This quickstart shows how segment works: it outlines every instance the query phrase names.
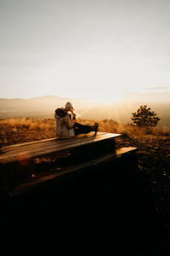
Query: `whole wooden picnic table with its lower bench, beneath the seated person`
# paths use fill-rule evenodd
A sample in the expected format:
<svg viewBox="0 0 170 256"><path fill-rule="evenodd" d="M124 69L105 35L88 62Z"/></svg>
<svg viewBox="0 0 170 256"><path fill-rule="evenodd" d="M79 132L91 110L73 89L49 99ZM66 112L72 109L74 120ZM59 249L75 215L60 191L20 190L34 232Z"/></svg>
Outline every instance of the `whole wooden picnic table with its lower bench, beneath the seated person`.
<svg viewBox="0 0 170 256"><path fill-rule="evenodd" d="M91 132L70 139L51 138L4 146L0 154L1 185L8 190L9 195L18 195L21 191L65 177L69 173L87 170L92 166L98 168L129 154L134 155L137 148L127 147L116 150L115 138L120 136L121 134ZM35 166L35 159L56 156L68 150L71 152L71 161L64 157L64 162L68 162L67 166L56 168L54 172L32 175L31 167Z"/></svg>

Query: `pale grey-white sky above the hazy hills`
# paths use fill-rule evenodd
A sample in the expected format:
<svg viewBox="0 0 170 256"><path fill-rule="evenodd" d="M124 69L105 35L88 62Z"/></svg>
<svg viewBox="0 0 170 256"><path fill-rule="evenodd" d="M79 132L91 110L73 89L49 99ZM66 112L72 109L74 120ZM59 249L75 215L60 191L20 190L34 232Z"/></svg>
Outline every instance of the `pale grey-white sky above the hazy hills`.
<svg viewBox="0 0 170 256"><path fill-rule="evenodd" d="M170 91L169 0L0 0L0 97Z"/></svg>

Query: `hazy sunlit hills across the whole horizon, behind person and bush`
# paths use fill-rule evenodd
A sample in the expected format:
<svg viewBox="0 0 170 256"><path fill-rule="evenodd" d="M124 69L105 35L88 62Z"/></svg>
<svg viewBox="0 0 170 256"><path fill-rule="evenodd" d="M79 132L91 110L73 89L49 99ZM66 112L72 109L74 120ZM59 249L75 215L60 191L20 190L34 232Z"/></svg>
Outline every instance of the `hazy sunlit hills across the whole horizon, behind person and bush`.
<svg viewBox="0 0 170 256"><path fill-rule="evenodd" d="M0 118L37 117L53 118L56 108L64 107L66 102L73 102L82 119L114 119L130 123L131 116L140 105L148 105L161 118L160 127L170 128L170 102L149 102L148 98L128 95L123 102L104 104L87 98L64 98L42 96L31 99L0 99Z"/></svg>

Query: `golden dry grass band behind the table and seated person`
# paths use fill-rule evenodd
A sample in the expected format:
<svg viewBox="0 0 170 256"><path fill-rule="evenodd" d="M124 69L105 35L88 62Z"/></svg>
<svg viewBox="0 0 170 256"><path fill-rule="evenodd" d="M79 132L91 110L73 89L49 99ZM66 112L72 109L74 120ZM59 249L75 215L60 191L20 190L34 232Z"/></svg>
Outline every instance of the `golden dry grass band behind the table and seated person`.
<svg viewBox="0 0 170 256"><path fill-rule="evenodd" d="M142 129L130 124L120 124L113 119L92 120L77 119L84 125L99 123L99 131L121 133L122 136L153 135L169 137L170 131L166 129ZM55 119L0 119L0 144L25 143L45 138L55 137Z"/></svg>

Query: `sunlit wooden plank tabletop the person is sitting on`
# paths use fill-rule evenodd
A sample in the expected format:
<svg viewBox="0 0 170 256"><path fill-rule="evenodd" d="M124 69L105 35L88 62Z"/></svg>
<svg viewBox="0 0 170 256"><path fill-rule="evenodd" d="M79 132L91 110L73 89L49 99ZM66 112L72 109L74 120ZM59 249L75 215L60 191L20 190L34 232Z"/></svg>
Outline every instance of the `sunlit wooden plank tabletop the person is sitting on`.
<svg viewBox="0 0 170 256"><path fill-rule="evenodd" d="M3 154L0 154L0 163L5 164L18 160L26 160L33 157L38 157L43 154L51 154L54 152L63 151L66 149L81 147L89 143L96 143L99 141L119 137L121 134L98 132L94 136L94 132L86 136L79 136L69 139L49 139L32 143L24 143L14 146L2 148Z"/></svg>

